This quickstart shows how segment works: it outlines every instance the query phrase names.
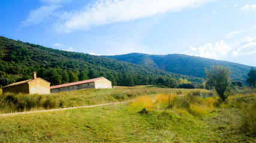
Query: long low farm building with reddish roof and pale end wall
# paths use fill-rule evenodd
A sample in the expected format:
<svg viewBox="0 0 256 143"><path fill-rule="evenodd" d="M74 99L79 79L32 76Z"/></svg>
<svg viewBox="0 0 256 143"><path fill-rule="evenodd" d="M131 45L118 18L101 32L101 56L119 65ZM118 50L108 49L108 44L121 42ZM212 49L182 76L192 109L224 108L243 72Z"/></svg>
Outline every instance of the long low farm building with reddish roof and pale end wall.
<svg viewBox="0 0 256 143"><path fill-rule="evenodd" d="M85 88L112 88L112 82L105 77L98 77L95 79L50 86L50 92L76 91Z"/></svg>

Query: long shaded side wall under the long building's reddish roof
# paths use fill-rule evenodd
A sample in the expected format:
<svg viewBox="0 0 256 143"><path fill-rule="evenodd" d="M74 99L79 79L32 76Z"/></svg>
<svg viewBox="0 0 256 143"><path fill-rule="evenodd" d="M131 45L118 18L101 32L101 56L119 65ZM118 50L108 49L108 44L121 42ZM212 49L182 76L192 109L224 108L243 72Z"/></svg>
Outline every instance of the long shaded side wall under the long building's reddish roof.
<svg viewBox="0 0 256 143"><path fill-rule="evenodd" d="M50 92L58 93L58 92L65 92L65 91L77 91L77 90L86 89L86 88L95 88L95 83L90 82L90 83L84 83L80 85L66 86L63 88L55 88L55 89L50 89Z"/></svg>

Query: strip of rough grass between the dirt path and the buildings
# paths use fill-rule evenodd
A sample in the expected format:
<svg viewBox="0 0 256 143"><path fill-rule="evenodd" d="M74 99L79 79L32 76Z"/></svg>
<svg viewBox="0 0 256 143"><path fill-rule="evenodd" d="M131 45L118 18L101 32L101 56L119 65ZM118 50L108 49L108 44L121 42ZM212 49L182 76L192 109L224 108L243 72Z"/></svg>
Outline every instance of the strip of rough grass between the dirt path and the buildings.
<svg viewBox="0 0 256 143"><path fill-rule="evenodd" d="M154 96L159 93L188 94L191 89L145 88L143 86L114 89L82 89L79 91L59 92L50 95L5 94L0 95L0 113L33 111L50 108L77 107L131 100L141 95ZM200 90L201 92L208 92ZM9 97L7 97L9 95ZM38 101L40 98L40 101Z"/></svg>

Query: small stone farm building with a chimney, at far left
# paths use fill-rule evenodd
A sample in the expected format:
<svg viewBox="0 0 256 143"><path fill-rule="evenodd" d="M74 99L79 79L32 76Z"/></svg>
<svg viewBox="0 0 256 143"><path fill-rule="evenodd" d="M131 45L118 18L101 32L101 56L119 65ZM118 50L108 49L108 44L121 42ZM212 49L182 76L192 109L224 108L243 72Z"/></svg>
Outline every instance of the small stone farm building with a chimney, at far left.
<svg viewBox="0 0 256 143"><path fill-rule="evenodd" d="M23 94L50 94L50 82L47 82L40 77L37 78L37 73L34 72L34 78L24 80L22 82L11 83L2 88L2 93L23 93Z"/></svg>

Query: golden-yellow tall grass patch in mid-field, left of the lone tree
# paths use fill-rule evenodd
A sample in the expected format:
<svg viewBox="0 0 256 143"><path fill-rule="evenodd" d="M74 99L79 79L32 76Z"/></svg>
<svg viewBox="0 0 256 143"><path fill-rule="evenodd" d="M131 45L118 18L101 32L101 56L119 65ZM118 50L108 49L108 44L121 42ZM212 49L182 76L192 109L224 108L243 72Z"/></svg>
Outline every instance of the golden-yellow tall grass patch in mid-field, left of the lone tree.
<svg viewBox="0 0 256 143"><path fill-rule="evenodd" d="M146 96L138 97L131 106L143 107L143 110L157 110L159 107L173 108L179 113L184 110L186 113L202 117L214 110L216 101L216 98L199 98L191 94L179 96L171 93L158 94L155 96L155 100Z"/></svg>

